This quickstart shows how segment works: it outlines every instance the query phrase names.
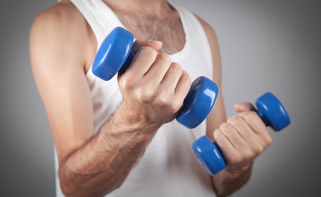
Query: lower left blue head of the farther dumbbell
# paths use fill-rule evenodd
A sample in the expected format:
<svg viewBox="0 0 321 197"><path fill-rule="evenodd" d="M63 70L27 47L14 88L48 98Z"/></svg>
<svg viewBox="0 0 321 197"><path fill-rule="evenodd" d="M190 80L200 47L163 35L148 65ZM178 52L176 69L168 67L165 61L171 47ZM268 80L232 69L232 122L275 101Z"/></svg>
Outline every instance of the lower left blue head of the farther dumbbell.
<svg viewBox="0 0 321 197"><path fill-rule="evenodd" d="M211 174L217 174L225 168L225 162L219 147L207 136L202 136L193 142L192 148L200 164Z"/></svg>

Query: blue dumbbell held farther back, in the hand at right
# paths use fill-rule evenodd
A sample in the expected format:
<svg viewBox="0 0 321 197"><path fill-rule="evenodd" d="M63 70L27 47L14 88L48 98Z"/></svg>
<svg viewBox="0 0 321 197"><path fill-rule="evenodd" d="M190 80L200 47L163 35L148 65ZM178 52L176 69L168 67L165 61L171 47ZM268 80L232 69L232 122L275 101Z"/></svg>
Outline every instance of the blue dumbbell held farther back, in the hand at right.
<svg viewBox="0 0 321 197"><path fill-rule="evenodd" d="M290 124L290 117L287 111L272 93L263 94L255 103L257 107L256 113L266 126L279 131ZM199 163L209 174L214 175L225 168L222 151L217 143L215 141L211 142L207 136L202 136L194 141L192 148Z"/></svg>

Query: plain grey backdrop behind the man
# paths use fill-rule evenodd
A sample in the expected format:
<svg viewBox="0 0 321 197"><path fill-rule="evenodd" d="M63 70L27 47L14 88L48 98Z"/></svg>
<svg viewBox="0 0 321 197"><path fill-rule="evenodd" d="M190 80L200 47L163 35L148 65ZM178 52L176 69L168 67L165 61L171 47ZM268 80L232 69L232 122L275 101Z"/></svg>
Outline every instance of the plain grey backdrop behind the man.
<svg viewBox="0 0 321 197"><path fill-rule="evenodd" d="M233 196L315 196L320 186L320 2L184 1L217 33L227 114L271 91L292 124L274 133ZM29 29L53 0L0 7L0 195L54 196L53 141L29 63Z"/></svg>

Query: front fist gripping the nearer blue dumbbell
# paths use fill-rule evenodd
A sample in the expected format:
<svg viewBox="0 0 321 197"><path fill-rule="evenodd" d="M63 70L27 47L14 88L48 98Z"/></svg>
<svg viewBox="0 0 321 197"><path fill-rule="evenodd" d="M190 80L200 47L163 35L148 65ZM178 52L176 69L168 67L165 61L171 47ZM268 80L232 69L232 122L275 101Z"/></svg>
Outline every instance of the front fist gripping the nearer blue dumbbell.
<svg viewBox="0 0 321 197"><path fill-rule="evenodd" d="M118 75L121 108L134 123L159 127L175 119L191 86L190 76L169 56L157 53L162 42L136 41L136 53L125 73Z"/></svg>

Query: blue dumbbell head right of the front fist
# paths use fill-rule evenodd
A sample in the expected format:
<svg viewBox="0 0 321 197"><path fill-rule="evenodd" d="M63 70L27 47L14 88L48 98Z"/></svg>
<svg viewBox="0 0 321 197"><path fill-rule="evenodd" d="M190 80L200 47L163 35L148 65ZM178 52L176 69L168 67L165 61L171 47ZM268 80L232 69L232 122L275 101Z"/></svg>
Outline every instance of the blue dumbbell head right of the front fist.
<svg viewBox="0 0 321 197"><path fill-rule="evenodd" d="M176 121L187 128L195 128L210 113L218 93L217 85L205 76L199 76L192 83L183 107Z"/></svg>

